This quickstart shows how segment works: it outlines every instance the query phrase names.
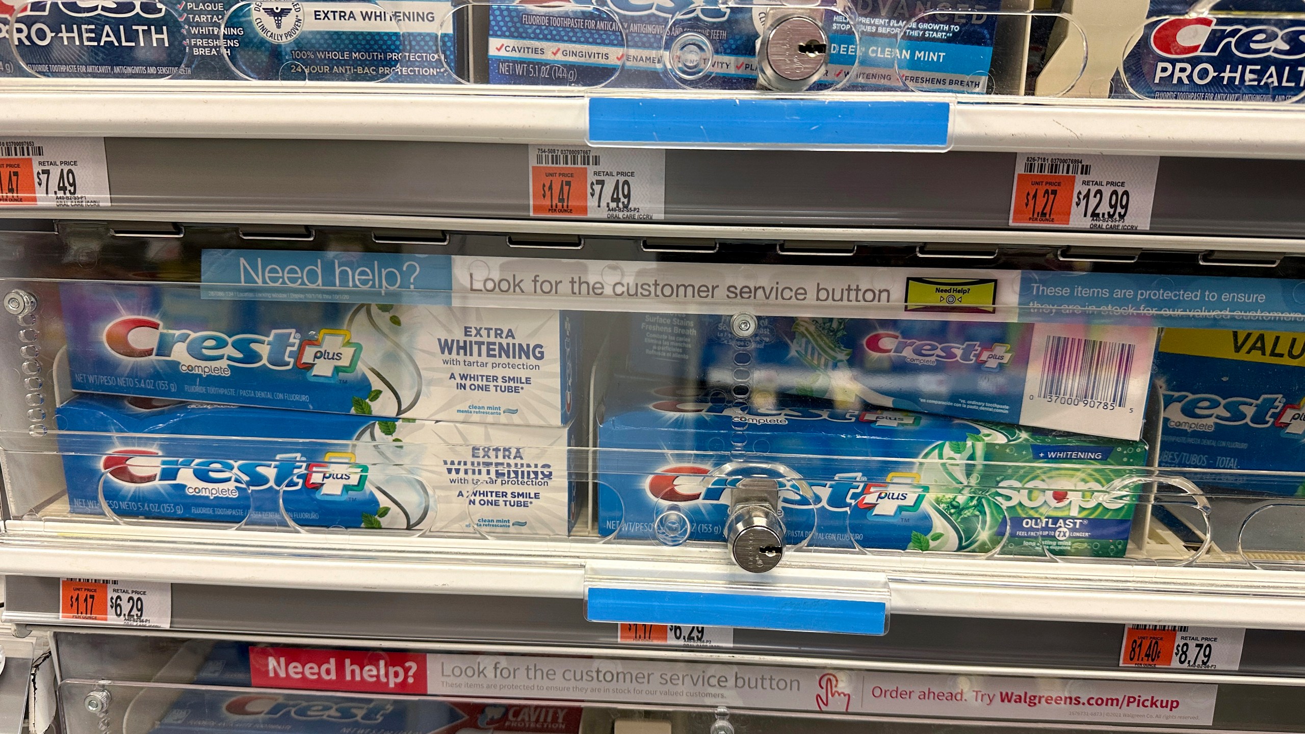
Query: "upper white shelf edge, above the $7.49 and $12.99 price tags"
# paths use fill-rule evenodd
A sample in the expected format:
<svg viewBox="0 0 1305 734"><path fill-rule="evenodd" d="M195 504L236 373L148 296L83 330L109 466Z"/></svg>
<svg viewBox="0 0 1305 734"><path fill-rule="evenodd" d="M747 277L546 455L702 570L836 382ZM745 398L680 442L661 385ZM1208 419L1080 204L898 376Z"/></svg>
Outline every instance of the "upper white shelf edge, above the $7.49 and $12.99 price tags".
<svg viewBox="0 0 1305 734"><path fill-rule="evenodd" d="M953 150L1305 158L1302 129L1302 106L962 97L953 120ZM583 144L586 97L488 86L5 80L0 131L7 136Z"/></svg>

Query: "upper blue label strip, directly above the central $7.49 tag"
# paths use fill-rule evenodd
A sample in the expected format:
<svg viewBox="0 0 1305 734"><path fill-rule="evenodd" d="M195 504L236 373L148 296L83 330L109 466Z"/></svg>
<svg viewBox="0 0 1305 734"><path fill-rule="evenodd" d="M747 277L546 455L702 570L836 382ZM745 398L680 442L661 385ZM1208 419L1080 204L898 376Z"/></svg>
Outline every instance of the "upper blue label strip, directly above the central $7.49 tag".
<svg viewBox="0 0 1305 734"><path fill-rule="evenodd" d="M589 141L925 148L951 144L949 102L595 97Z"/></svg>

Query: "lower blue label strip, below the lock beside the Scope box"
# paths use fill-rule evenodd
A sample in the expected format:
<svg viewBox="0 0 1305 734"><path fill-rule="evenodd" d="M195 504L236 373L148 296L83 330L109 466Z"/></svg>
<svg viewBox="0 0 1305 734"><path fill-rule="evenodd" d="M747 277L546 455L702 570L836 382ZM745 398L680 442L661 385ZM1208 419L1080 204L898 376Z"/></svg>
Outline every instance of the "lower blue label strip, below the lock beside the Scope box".
<svg viewBox="0 0 1305 734"><path fill-rule="evenodd" d="M770 597L591 586L590 622L703 624L793 632L882 635L887 605L874 601Z"/></svg>

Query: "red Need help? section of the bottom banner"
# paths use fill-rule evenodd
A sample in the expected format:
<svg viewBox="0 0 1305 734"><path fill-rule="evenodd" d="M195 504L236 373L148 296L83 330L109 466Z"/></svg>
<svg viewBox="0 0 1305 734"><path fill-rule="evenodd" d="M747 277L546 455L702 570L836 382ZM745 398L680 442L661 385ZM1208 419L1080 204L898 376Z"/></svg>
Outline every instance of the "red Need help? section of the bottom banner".
<svg viewBox="0 0 1305 734"><path fill-rule="evenodd" d="M424 695L425 656L254 646L249 648L249 682L269 688Z"/></svg>

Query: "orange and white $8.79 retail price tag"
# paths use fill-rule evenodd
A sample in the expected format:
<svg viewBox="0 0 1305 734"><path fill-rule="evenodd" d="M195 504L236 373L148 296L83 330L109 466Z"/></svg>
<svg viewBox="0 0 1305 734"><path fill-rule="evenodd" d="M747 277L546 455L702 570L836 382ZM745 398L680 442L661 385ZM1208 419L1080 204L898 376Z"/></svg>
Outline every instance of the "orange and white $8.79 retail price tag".
<svg viewBox="0 0 1305 734"><path fill-rule="evenodd" d="M1129 624L1121 666L1237 670L1246 631L1231 627Z"/></svg>

